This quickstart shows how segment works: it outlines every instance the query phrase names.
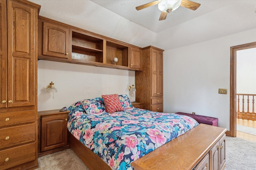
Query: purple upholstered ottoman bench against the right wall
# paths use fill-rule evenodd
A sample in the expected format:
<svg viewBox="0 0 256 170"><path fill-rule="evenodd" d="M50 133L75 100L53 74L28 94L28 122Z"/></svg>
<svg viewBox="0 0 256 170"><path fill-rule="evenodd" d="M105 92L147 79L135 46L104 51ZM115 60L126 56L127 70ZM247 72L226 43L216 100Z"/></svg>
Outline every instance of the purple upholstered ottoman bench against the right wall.
<svg viewBox="0 0 256 170"><path fill-rule="evenodd" d="M195 119L198 123L204 123L206 125L212 125L212 126L217 126L218 127L218 118L216 117L209 117L209 116L202 116L202 115L194 115L190 113L182 113L182 112L177 112L176 114L179 115L186 115L189 117L192 117Z"/></svg>

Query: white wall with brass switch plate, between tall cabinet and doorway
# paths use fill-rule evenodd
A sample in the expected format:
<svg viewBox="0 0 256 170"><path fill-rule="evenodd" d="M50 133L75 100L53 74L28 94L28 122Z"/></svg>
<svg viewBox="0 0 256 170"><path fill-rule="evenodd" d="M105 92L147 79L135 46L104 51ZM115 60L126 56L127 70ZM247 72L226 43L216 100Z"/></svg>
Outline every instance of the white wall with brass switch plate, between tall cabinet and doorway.
<svg viewBox="0 0 256 170"><path fill-rule="evenodd" d="M164 112L218 117L230 129L230 47L256 41L256 29L164 51ZM219 88L228 94L218 94Z"/></svg>

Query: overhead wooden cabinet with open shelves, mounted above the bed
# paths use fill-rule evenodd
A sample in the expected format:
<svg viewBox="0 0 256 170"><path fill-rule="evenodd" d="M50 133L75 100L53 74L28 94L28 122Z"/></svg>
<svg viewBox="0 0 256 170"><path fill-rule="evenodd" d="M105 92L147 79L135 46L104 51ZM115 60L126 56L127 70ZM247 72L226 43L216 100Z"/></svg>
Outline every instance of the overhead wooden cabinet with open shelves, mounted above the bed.
<svg viewBox="0 0 256 170"><path fill-rule="evenodd" d="M38 59L140 70L140 47L40 16ZM118 61L114 62L113 59Z"/></svg>

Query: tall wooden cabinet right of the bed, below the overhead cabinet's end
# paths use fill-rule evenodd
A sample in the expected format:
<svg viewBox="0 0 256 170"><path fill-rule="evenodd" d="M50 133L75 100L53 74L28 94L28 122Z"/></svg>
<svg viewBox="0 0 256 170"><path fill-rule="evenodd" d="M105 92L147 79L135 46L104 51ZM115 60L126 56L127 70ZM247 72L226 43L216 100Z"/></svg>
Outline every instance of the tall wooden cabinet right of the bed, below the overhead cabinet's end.
<svg viewBox="0 0 256 170"><path fill-rule="evenodd" d="M148 46L142 49L142 71L135 72L136 102L144 109L163 111L163 51Z"/></svg>

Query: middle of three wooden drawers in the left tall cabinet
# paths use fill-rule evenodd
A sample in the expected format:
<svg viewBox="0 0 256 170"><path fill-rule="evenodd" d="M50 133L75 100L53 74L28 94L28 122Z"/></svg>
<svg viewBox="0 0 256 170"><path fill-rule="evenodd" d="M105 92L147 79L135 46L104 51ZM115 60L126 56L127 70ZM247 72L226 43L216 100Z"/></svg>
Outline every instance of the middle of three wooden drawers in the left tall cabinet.
<svg viewBox="0 0 256 170"><path fill-rule="evenodd" d="M0 129L0 149L35 141L35 134L35 123Z"/></svg>

